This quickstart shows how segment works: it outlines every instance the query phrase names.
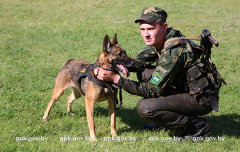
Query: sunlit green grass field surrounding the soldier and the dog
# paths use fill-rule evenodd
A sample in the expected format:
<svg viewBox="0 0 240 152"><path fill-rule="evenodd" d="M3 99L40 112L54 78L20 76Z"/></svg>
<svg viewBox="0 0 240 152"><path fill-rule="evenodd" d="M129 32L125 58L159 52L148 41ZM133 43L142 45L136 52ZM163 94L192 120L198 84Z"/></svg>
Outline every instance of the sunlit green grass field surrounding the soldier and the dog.
<svg viewBox="0 0 240 152"><path fill-rule="evenodd" d="M134 20L143 8L168 13L168 25L186 36L209 29L219 43L212 60L227 82L220 110L204 118L212 125L208 140L177 143L168 131L148 131L136 111L141 97L123 92L117 111L118 140L110 141L107 102L95 105L98 142L89 137L84 98L67 115L67 91L42 116L54 77L72 58L94 63L105 35L133 57L145 46ZM240 151L240 2L239 0L1 0L0 1L0 151ZM130 79L136 79L134 73Z"/></svg>

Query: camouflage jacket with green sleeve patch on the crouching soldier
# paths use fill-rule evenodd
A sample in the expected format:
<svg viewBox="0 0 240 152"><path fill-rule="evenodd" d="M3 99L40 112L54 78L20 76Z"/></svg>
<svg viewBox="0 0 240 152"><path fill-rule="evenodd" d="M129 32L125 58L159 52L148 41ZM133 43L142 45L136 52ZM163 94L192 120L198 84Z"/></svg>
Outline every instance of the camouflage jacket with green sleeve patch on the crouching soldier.
<svg viewBox="0 0 240 152"><path fill-rule="evenodd" d="M183 36L180 31L168 29L169 33L165 41L173 37ZM133 80L120 78L118 86L122 87L130 94L146 98L158 97L171 85L179 76L189 69L189 67L200 58L201 53L189 52L186 45L180 45L166 50L161 54L161 50L153 46L146 46L145 49L133 59L136 61L129 71L136 72L145 69L157 60L157 67L148 82L136 82Z"/></svg>

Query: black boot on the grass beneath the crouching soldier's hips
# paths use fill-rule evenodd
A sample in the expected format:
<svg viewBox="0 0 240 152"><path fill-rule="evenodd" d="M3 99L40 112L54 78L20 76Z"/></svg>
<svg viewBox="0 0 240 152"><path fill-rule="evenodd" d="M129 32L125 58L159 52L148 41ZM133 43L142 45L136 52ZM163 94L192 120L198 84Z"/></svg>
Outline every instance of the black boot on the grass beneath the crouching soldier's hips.
<svg viewBox="0 0 240 152"><path fill-rule="evenodd" d="M202 137L196 139L204 139L211 134L211 126L206 119L197 116L188 117L189 119L186 124L186 130L181 135L182 139L188 140L193 139L194 137Z"/></svg>

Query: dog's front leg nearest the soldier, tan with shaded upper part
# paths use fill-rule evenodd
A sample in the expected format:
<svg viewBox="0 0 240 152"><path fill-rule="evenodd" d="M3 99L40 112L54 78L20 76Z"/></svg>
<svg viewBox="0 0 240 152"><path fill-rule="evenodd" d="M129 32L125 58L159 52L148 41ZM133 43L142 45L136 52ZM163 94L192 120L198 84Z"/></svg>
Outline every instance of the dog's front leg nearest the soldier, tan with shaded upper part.
<svg viewBox="0 0 240 152"><path fill-rule="evenodd" d="M111 98L108 99L108 110L111 120L111 134L113 137L117 137L116 131L116 110L114 109L114 103Z"/></svg>

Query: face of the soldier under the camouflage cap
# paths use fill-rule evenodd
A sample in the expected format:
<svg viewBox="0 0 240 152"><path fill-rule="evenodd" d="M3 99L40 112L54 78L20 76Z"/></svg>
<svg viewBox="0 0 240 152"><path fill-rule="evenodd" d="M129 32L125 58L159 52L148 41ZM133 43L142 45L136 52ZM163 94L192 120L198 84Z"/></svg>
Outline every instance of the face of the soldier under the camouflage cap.
<svg viewBox="0 0 240 152"><path fill-rule="evenodd" d="M158 21L152 23L141 21L140 30L145 43L159 49L166 37L167 24L160 26Z"/></svg>

